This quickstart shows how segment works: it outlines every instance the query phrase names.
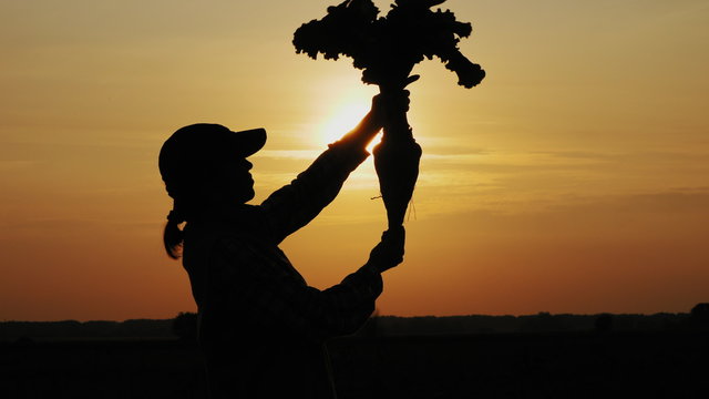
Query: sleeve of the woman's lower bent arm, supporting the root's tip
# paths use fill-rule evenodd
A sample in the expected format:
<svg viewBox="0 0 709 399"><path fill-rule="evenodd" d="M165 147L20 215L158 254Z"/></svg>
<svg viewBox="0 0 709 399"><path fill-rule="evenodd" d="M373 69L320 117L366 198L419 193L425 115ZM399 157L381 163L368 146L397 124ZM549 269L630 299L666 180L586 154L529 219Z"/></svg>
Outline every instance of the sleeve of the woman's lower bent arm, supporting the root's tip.
<svg viewBox="0 0 709 399"><path fill-rule="evenodd" d="M210 296L255 329L287 330L314 341L357 331L374 310L381 274L367 264L320 290L247 243L217 242L209 263Z"/></svg>

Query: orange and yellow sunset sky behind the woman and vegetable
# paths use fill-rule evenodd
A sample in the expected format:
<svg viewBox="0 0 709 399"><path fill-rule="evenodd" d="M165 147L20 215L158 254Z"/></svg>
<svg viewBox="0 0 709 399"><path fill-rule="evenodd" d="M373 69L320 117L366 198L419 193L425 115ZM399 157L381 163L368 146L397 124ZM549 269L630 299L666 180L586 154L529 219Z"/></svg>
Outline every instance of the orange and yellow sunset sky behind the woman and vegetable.
<svg viewBox="0 0 709 399"><path fill-rule="evenodd" d="M376 1L386 12L387 1ZM296 54L329 1L0 0L0 320L194 311L162 247L176 129L266 127L257 196L353 127L377 88ZM709 301L709 3L449 0L487 76L414 69L423 147L380 315L689 311ZM281 248L310 285L386 228L371 157Z"/></svg>

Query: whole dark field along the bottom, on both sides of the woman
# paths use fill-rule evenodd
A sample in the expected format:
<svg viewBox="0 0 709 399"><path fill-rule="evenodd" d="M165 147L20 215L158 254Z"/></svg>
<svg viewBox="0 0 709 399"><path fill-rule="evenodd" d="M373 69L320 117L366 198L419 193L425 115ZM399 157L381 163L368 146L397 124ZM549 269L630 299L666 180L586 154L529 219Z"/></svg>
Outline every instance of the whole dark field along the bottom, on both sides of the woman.
<svg viewBox="0 0 709 399"><path fill-rule="evenodd" d="M709 398L705 331L350 337L340 398ZM0 398L204 398L196 346L0 342Z"/></svg>

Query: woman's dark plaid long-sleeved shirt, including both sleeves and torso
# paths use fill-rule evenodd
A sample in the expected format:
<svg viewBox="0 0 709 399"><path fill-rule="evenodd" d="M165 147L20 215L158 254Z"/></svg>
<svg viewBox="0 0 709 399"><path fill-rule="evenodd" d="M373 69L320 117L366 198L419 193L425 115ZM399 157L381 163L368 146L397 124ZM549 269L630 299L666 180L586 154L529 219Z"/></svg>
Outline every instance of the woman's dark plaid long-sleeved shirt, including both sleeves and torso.
<svg viewBox="0 0 709 399"><path fill-rule="evenodd" d="M199 309L213 396L335 396L322 342L364 324L381 294L381 275L368 263L319 290L278 244L316 217L368 155L332 144L260 206L188 223L183 265Z"/></svg>

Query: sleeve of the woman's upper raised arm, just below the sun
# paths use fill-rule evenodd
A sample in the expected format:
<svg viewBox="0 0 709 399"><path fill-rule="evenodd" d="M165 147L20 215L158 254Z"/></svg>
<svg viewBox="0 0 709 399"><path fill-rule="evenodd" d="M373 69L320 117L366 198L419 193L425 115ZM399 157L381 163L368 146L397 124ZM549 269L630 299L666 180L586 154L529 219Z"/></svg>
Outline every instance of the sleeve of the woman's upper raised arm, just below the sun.
<svg viewBox="0 0 709 399"><path fill-rule="evenodd" d="M296 180L274 192L264 211L274 244L307 225L335 200L349 174L369 153L350 143L330 144Z"/></svg>

